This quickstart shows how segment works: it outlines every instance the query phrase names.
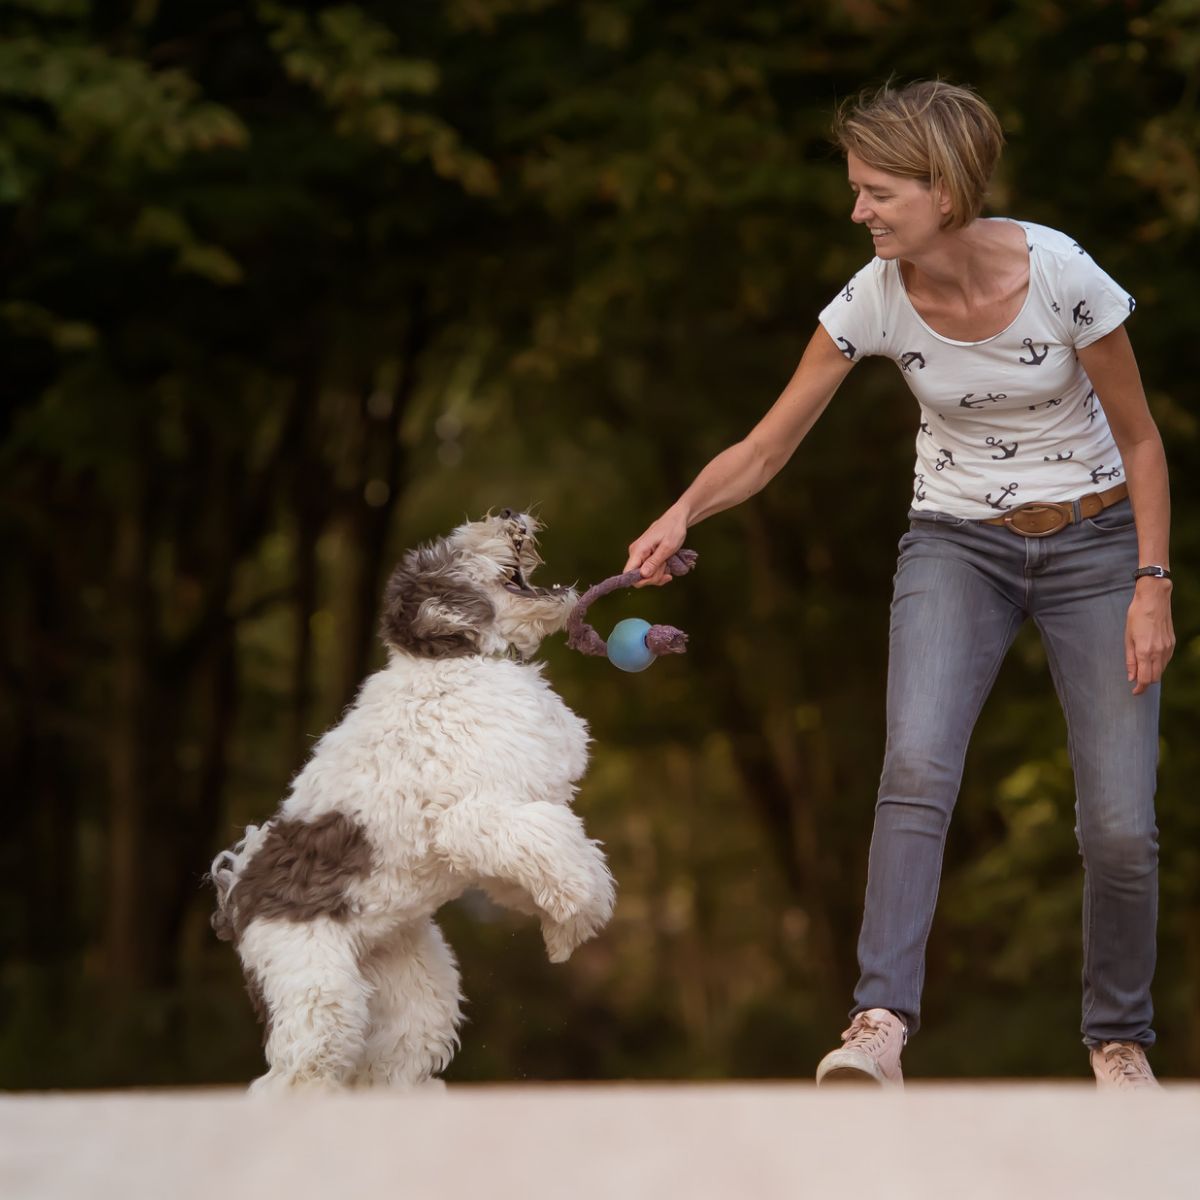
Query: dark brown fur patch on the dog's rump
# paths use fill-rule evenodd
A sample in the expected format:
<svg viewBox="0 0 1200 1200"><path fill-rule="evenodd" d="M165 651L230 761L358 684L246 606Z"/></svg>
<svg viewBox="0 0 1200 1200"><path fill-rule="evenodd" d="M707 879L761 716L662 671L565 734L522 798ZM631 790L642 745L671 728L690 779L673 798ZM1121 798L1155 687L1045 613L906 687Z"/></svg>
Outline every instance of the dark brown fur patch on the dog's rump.
<svg viewBox="0 0 1200 1200"><path fill-rule="evenodd" d="M344 920L346 884L368 875L371 859L366 833L344 812L316 821L275 818L229 893L234 934L240 937L258 917Z"/></svg>

